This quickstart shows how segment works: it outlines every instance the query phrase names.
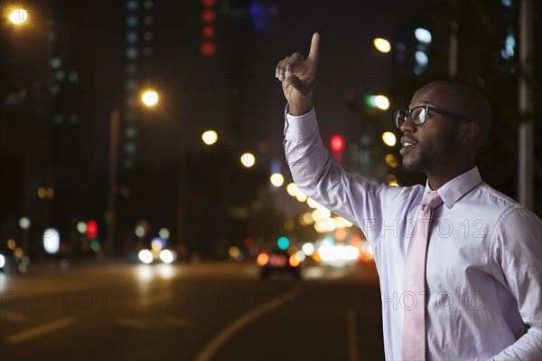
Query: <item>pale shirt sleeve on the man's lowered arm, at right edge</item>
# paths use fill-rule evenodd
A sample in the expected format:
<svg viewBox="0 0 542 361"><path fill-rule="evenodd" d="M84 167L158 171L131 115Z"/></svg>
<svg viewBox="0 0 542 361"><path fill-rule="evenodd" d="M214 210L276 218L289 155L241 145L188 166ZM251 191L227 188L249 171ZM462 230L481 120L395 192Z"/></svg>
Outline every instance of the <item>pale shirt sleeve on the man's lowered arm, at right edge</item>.
<svg viewBox="0 0 542 361"><path fill-rule="evenodd" d="M493 254L518 301L528 332L492 360L542 359L542 222L524 208L510 212L493 236Z"/></svg>

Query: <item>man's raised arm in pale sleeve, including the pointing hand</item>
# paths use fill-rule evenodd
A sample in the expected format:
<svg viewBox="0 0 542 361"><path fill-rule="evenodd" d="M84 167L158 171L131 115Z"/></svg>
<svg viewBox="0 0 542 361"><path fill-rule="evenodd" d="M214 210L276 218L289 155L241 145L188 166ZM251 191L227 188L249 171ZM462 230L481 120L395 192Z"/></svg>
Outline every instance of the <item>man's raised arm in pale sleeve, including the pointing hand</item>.
<svg viewBox="0 0 542 361"><path fill-rule="evenodd" d="M306 59L294 52L276 65L276 78L282 81L288 100L284 142L286 162L295 184L305 195L363 229L366 228L362 226L363 220L381 220L382 204L392 204L397 196L388 191L388 201L382 202L382 191L386 185L371 185L367 178L346 172L332 162L323 147L313 108L319 45L320 34L314 33ZM378 238L379 224L381 222L371 230L363 229L368 239Z"/></svg>

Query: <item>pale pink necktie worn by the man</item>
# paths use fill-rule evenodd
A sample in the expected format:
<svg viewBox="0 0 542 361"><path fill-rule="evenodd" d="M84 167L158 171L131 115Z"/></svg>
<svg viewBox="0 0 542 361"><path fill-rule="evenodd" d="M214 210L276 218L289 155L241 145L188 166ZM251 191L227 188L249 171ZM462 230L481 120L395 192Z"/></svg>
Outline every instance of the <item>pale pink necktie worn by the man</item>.
<svg viewBox="0 0 542 361"><path fill-rule="evenodd" d="M442 203L436 191L424 195L408 242L403 282L403 360L425 360L425 254L433 209Z"/></svg>

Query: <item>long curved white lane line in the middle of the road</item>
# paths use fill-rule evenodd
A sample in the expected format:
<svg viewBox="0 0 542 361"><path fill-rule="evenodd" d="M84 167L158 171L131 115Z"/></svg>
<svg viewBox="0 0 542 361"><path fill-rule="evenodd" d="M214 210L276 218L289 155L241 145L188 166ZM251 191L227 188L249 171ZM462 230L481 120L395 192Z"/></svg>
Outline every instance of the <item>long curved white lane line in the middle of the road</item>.
<svg viewBox="0 0 542 361"><path fill-rule="evenodd" d="M294 299L299 294L299 290L291 290L285 292L281 296L277 296L271 302L271 305L266 309L252 309L245 313L241 318L236 319L234 322L230 323L227 328L222 329L220 333L212 338L210 342L203 347L200 354L195 358L195 361L209 361L212 356L217 352L217 350L224 344L229 337L235 334L240 328L243 328L250 321L255 318L258 318L277 307L284 305L284 300ZM280 301L278 300L280 299Z"/></svg>

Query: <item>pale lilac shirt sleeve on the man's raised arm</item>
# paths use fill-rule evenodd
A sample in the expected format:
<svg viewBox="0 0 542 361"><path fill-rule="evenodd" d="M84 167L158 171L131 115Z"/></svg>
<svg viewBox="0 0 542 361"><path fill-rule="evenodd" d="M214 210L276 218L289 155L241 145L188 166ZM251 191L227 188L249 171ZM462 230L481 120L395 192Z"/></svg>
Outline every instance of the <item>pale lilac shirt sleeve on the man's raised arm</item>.
<svg viewBox="0 0 542 361"><path fill-rule="evenodd" d="M382 197L388 185L371 184L332 162L322 145L314 109L302 116L292 116L287 109L285 157L295 184L304 195L358 225L369 242L378 238L380 223L366 221L382 219Z"/></svg>

